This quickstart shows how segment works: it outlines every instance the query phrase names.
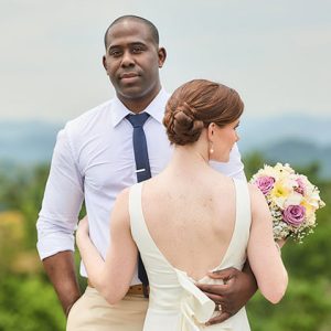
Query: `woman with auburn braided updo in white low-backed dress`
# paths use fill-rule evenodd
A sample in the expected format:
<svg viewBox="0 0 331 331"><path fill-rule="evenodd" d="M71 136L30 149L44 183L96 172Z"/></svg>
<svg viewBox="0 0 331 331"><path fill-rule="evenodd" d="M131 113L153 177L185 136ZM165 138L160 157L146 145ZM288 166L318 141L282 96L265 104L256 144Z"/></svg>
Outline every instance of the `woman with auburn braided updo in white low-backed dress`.
<svg viewBox="0 0 331 331"><path fill-rule="evenodd" d="M261 293L274 303L284 296L287 273L263 194L209 164L228 161L243 109L227 86L195 79L179 87L163 119L174 145L172 159L159 175L119 194L105 261L88 237L87 222L78 226L89 281L109 303L127 292L139 249L150 282L146 331L249 330L245 309L206 327L220 307L215 311L194 285L212 282L211 270L242 269L247 256Z"/></svg>

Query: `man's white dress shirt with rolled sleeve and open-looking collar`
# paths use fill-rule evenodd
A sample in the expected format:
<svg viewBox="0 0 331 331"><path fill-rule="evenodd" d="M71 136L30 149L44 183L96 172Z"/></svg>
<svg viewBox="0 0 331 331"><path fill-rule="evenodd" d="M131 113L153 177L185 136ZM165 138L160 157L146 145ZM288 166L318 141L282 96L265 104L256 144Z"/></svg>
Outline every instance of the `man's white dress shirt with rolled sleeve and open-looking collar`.
<svg viewBox="0 0 331 331"><path fill-rule="evenodd" d="M163 89L145 109L150 117L143 126L151 174L166 168L171 147L162 125ZM63 250L74 250L74 231L85 199L89 235L105 257L109 245L109 220L117 194L137 182L132 126L125 118L130 110L118 98L68 121L57 135L42 209L36 223L38 250L43 259ZM229 162L213 167L245 179L235 146ZM81 274L86 276L84 266ZM137 273L132 285L140 282Z"/></svg>

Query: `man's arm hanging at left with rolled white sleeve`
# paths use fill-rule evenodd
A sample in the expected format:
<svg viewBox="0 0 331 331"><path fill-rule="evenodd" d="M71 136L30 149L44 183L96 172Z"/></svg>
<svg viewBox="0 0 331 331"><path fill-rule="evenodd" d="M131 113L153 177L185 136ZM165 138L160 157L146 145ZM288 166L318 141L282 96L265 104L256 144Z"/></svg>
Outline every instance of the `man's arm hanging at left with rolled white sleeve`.
<svg viewBox="0 0 331 331"><path fill-rule="evenodd" d="M83 199L83 179L63 130L57 136L36 228L39 255L66 314L81 296L73 252Z"/></svg>

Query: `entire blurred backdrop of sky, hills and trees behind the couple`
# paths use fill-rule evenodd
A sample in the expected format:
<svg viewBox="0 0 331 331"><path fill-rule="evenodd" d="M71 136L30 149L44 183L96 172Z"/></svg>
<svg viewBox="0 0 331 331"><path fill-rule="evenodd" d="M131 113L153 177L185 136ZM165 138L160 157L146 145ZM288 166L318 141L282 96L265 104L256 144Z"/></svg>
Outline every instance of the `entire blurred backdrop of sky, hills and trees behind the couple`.
<svg viewBox="0 0 331 331"><path fill-rule="evenodd" d="M104 31L128 13L159 28L168 92L204 77L241 93L247 178L281 161L320 188L314 234L282 249L286 297L247 310L254 331L331 330L330 1L0 1L0 331L65 329L35 249L46 162L63 124L114 95Z"/></svg>

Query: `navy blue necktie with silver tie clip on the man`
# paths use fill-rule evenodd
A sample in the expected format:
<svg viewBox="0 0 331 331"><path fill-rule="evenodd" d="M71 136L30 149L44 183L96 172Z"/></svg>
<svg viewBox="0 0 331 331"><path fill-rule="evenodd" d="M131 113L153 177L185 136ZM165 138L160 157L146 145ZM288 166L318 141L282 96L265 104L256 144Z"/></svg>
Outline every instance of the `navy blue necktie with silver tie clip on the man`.
<svg viewBox="0 0 331 331"><path fill-rule="evenodd" d="M142 182L151 178L150 166L148 159L148 150L146 136L143 131L143 125L149 118L149 114L141 113L137 115L127 115L126 118L134 127L134 150L135 150L135 160L136 160L136 173L137 181ZM139 254L138 257L138 278L141 280L143 285L148 285L147 274Z"/></svg>

